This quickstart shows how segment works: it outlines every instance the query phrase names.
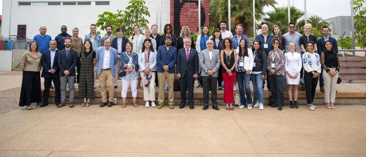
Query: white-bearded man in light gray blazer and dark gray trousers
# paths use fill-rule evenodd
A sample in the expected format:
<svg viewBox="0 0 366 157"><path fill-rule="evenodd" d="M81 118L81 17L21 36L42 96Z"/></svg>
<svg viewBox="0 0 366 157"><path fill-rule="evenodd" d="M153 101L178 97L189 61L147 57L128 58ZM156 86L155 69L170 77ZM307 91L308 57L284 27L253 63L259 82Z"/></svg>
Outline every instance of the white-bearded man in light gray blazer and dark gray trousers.
<svg viewBox="0 0 366 157"><path fill-rule="evenodd" d="M201 76L203 83L203 110L208 109L209 104L209 90L211 91L211 103L212 108L215 110L219 110L217 107L217 77L219 76L219 67L221 64L220 61L220 52L218 50L213 49L213 41L206 41L207 49L201 52L199 56L199 66L202 68Z"/></svg>

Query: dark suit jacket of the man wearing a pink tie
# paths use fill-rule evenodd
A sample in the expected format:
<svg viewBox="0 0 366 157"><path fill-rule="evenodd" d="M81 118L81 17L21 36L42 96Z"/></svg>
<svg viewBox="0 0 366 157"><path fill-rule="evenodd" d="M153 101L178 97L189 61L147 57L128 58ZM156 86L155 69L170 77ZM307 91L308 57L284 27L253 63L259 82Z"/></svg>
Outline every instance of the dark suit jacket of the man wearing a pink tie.
<svg viewBox="0 0 366 157"><path fill-rule="evenodd" d="M193 78L194 74L198 74L198 52L193 48L189 51L188 61L186 48L178 51L177 74L183 77L186 72L188 78Z"/></svg>

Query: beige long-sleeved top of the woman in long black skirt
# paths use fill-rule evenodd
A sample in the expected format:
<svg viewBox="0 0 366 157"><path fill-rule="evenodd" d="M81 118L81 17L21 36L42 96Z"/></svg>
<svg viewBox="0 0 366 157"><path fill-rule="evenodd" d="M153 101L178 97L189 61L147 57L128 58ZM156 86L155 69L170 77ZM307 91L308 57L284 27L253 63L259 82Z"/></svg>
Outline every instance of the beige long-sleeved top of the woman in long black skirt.
<svg viewBox="0 0 366 157"><path fill-rule="evenodd" d="M41 57L42 54L40 52L38 52L37 57L33 57L32 52L26 51L20 60L20 70L30 72L41 71Z"/></svg>

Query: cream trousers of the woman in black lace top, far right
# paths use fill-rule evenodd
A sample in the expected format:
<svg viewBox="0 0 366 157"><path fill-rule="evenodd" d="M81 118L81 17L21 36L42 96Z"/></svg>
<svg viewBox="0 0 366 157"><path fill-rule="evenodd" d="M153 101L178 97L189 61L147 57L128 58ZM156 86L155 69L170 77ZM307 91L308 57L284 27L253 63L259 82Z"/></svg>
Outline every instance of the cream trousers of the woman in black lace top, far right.
<svg viewBox="0 0 366 157"><path fill-rule="evenodd" d="M334 73L336 68L328 67L330 72ZM335 102L336 99L336 86L338 80L338 73L335 76L330 76L329 73L323 69L323 78L324 78L324 102L330 103Z"/></svg>

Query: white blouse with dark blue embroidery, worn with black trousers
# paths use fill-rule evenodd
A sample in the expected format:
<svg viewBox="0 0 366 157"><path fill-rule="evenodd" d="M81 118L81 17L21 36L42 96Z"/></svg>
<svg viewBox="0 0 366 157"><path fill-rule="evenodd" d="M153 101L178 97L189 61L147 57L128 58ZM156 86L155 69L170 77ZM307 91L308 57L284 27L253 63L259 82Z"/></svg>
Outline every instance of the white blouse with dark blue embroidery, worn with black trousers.
<svg viewBox="0 0 366 157"><path fill-rule="evenodd" d="M306 72L310 73L311 71L321 72L321 63L319 54L313 52L312 54L306 52L302 55L302 63Z"/></svg>

